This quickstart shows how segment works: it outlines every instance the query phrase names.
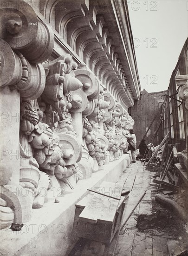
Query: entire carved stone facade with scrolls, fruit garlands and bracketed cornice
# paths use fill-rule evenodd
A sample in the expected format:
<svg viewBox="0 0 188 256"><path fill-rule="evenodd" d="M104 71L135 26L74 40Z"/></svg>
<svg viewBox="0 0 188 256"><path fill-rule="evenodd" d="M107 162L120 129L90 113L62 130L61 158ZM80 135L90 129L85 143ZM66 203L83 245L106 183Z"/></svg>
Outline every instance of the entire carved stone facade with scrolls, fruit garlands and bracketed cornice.
<svg viewBox="0 0 188 256"><path fill-rule="evenodd" d="M0 227L16 231L59 202L52 191L74 193L120 159L141 91L123 0L10 0L0 12Z"/></svg>

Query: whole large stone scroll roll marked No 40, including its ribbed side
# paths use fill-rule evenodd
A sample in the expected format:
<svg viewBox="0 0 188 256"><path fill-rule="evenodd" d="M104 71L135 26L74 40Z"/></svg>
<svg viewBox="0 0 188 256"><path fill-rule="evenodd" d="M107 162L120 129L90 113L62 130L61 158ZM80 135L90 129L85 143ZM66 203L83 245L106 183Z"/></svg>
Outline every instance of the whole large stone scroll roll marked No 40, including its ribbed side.
<svg viewBox="0 0 188 256"><path fill-rule="evenodd" d="M8 1L0 10L0 37L13 50L19 50L31 63L45 61L53 51L54 34L52 28L38 20L32 7L23 0L15 4Z"/></svg>

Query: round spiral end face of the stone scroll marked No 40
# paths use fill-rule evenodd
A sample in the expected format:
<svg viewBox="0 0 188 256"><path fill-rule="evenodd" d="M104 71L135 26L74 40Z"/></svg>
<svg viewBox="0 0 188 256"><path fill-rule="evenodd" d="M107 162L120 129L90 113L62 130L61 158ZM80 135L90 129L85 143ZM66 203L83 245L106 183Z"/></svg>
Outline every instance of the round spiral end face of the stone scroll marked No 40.
<svg viewBox="0 0 188 256"><path fill-rule="evenodd" d="M9 8L8 8L9 7ZM1 6L0 38L18 50L29 46L37 36L38 19L32 7L25 1L10 0Z"/></svg>

